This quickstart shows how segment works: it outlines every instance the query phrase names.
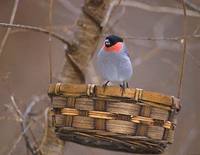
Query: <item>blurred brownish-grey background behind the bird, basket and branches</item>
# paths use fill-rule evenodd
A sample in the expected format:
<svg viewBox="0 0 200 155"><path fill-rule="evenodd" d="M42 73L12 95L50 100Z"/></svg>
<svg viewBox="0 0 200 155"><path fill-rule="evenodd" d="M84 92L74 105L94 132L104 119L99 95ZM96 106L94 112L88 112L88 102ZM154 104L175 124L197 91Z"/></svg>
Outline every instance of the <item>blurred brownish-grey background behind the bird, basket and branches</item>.
<svg viewBox="0 0 200 155"><path fill-rule="evenodd" d="M150 6L168 6L181 9L176 0L137 0ZM199 0L190 0L200 9ZM55 0L52 29L64 37L73 33L83 0ZM14 0L0 0L0 22L9 23ZM20 0L14 23L49 28L47 0ZM200 14L199 14L200 15ZM125 38L133 60L134 75L131 87L177 95L178 74L183 44L176 38L183 35L183 16L158 13L131 6L119 6L113 12L109 24ZM0 27L0 42L6 28ZM200 17L187 17L187 34L200 35ZM103 38L103 37L102 37ZM50 45L51 44L51 45ZM99 43L101 44L101 43ZM43 113L49 105L48 53L52 51L53 81L57 81L65 62L64 44L56 39L49 42L43 33L12 29L0 55L0 154L26 154L24 140L15 143L21 128L12 108L11 96L22 112L31 102L37 102L32 115L36 117L33 131L38 139L44 128ZM99 49L100 47L98 47ZM95 61L96 57L92 59ZM87 82L90 81L88 76ZM187 41L186 63L181 90L182 110L178 116L175 142L164 155L200 155L200 38ZM39 121L38 121L39 120ZM15 145L13 147L13 145ZM129 155L66 142L64 154L70 155Z"/></svg>

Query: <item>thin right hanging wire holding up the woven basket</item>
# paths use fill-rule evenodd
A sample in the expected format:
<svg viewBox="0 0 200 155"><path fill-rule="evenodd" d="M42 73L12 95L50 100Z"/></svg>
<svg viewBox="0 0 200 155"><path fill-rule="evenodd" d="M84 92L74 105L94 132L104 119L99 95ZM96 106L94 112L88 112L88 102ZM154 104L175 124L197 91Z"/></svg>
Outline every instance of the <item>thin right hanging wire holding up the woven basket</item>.
<svg viewBox="0 0 200 155"><path fill-rule="evenodd" d="M181 43L183 43L183 55L181 59L181 64L180 64L180 70L179 70L179 80L178 80L178 91L177 91L177 97L180 98L181 95L181 89L183 85L183 75L184 75L184 66L185 66L185 61L186 61L186 48L187 48L187 35L186 35L186 30L187 30L187 13L186 13L186 6L184 0L181 0L182 6L183 6L183 39L181 40Z"/></svg>

